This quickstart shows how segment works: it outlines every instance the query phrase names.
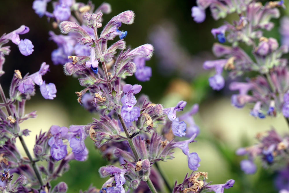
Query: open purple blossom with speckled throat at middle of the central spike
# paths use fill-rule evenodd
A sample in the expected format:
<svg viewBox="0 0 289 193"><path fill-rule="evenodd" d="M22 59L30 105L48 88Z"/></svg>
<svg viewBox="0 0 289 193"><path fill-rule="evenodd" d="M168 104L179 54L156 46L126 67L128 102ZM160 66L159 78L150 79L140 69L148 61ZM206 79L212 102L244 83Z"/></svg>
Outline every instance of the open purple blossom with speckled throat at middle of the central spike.
<svg viewBox="0 0 289 193"><path fill-rule="evenodd" d="M136 104L136 97L134 94L139 93L142 89L141 85L126 84L123 86L123 92L125 95L121 98L123 106L121 107L121 116L126 122L132 122L138 120L140 116L140 108L134 105Z"/></svg>

